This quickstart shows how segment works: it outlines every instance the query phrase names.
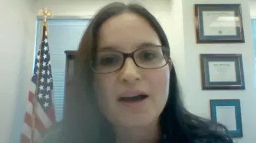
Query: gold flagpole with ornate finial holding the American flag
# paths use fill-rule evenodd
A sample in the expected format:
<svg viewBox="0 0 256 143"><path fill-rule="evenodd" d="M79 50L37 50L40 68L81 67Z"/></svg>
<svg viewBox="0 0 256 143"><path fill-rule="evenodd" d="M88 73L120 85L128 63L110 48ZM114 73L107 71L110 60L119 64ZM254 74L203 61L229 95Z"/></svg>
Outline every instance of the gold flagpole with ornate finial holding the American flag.
<svg viewBox="0 0 256 143"><path fill-rule="evenodd" d="M46 26L46 19L47 16L51 16L52 17L52 12L50 10L47 10L47 7L45 7L44 9L40 9L38 12L39 15L43 15L43 28L44 26ZM47 27L46 27L47 28ZM42 39L42 38L41 38ZM36 114L35 114L35 108L36 108L36 96L38 95L38 82L39 82L39 71L41 68L41 53L42 53L42 41L41 44L39 46L39 59L38 59L38 63L39 63L39 67L38 70L36 71L37 74L37 80L36 80L36 89L35 89L35 94L34 94L34 98L33 98L33 115L32 117L32 132L31 132L31 143L35 143L35 129L36 129Z"/></svg>

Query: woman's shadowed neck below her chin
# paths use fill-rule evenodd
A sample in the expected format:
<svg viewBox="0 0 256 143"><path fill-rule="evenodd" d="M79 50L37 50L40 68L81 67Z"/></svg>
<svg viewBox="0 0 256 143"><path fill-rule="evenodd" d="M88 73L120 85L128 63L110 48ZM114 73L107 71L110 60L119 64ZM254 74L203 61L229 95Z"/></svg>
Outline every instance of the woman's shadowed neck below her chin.
<svg viewBox="0 0 256 143"><path fill-rule="evenodd" d="M161 134L159 124L134 128L118 127L115 131L117 143L158 143Z"/></svg>

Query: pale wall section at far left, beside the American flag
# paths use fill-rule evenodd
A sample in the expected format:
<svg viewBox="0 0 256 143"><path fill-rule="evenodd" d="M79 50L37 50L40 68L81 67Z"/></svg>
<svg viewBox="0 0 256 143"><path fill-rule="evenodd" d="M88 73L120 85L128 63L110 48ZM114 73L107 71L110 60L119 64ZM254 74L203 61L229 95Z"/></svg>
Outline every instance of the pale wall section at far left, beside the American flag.
<svg viewBox="0 0 256 143"><path fill-rule="evenodd" d="M0 1L0 142L19 142L21 112L25 110L28 74L34 50L35 19L30 0ZM19 110L18 110L19 108ZM24 113L24 112L23 112ZM23 116L23 115L22 115ZM10 136L12 134L12 136Z"/></svg>

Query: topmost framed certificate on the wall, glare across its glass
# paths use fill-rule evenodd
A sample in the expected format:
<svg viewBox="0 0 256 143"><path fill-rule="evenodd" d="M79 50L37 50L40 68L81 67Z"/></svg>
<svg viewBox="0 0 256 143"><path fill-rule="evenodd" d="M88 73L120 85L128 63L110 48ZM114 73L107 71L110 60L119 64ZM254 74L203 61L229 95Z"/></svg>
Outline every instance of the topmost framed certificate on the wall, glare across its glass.
<svg viewBox="0 0 256 143"><path fill-rule="evenodd" d="M197 43L244 43L241 4L196 4Z"/></svg>

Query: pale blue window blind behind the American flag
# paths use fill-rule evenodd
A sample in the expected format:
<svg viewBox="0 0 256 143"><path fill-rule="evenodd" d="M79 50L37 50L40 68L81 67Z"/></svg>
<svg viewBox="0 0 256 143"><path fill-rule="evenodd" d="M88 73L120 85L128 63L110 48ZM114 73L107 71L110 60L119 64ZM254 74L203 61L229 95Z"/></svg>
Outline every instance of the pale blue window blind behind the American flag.
<svg viewBox="0 0 256 143"><path fill-rule="evenodd" d="M36 50L42 38L43 20L37 20ZM51 56L53 94L57 121L62 120L65 89L66 50L76 50L81 37L89 24L88 19L49 19L47 20L49 50ZM36 55L35 53L35 55Z"/></svg>

